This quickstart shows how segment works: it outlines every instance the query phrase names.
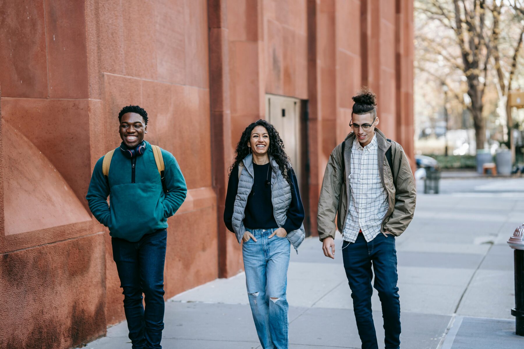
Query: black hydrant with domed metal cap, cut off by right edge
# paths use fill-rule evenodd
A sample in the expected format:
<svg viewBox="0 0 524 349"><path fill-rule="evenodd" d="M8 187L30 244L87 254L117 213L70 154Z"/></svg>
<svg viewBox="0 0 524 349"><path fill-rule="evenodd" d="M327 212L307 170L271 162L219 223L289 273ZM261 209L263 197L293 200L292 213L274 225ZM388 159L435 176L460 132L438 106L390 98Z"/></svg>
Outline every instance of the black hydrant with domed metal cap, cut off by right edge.
<svg viewBox="0 0 524 349"><path fill-rule="evenodd" d="M515 308L511 315L515 316L515 333L524 336L524 224L515 229L508 245L515 250Z"/></svg>

